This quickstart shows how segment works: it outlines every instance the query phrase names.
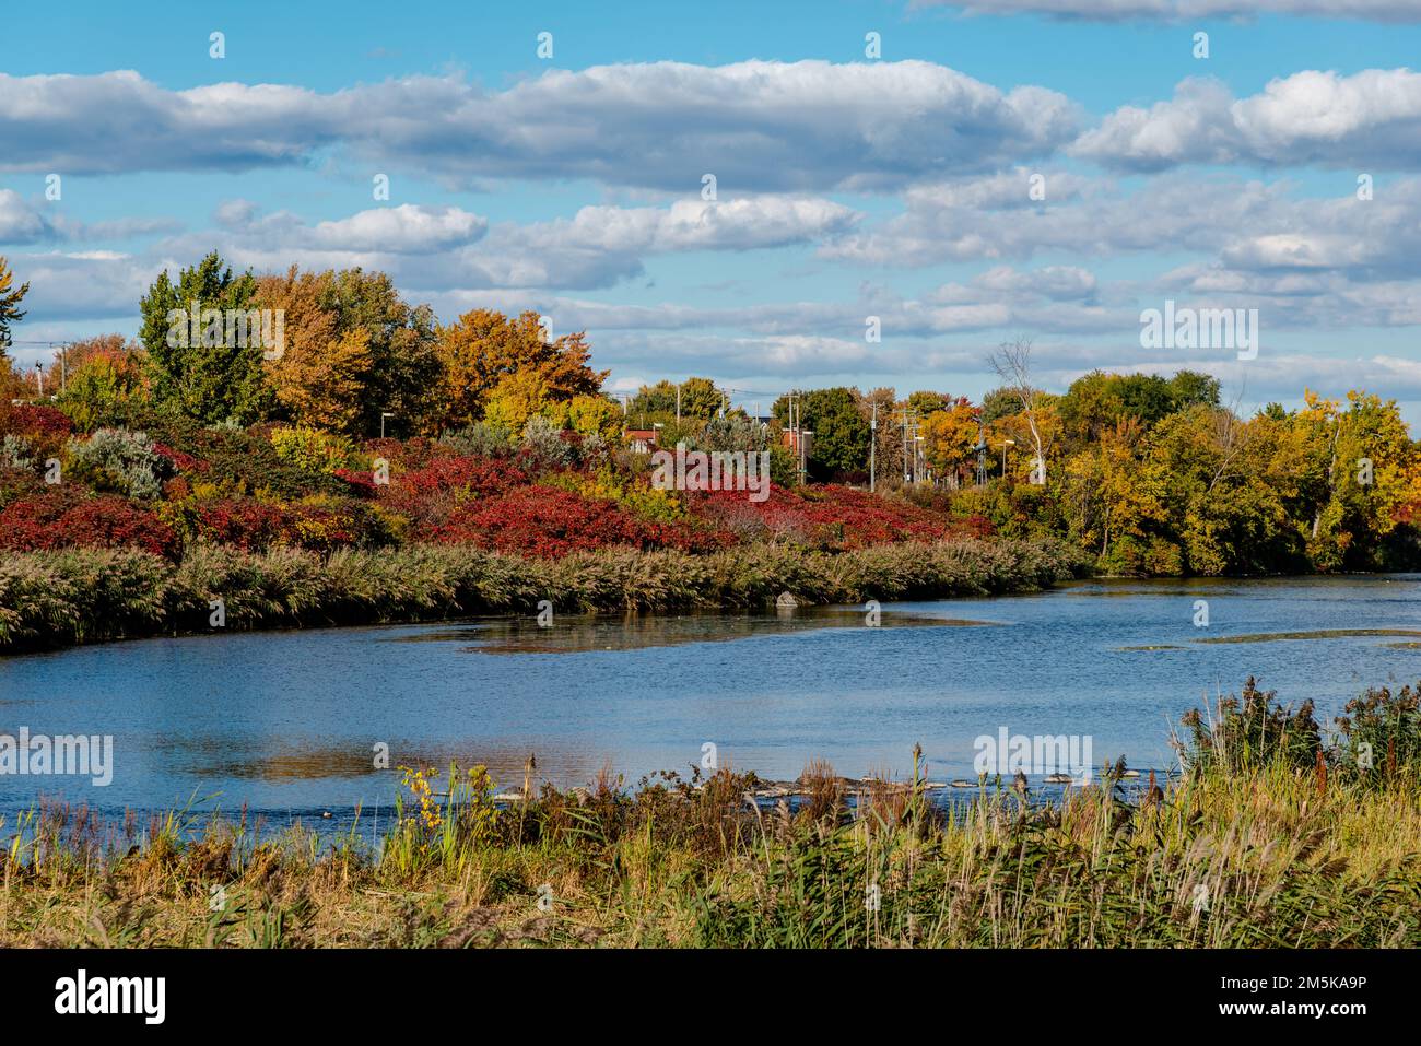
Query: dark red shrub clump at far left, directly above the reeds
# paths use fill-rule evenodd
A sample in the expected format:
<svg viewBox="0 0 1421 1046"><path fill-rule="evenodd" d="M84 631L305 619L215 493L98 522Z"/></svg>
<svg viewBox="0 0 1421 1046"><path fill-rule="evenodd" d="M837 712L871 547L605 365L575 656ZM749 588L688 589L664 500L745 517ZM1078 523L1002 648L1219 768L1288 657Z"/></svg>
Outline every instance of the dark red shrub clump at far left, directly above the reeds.
<svg viewBox="0 0 1421 1046"><path fill-rule="evenodd" d="M178 534L158 516L117 495L53 492L23 497L0 512L0 549L144 549L175 557Z"/></svg>

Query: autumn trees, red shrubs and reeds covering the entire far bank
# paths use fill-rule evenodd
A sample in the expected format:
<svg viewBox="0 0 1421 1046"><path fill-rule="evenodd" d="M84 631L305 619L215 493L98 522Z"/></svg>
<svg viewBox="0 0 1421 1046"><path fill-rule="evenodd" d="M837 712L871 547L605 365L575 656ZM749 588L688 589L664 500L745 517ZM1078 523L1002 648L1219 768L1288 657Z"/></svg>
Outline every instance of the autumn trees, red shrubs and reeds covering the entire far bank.
<svg viewBox="0 0 1421 1046"><path fill-rule="evenodd" d="M280 345L233 330L263 310L283 317ZM999 384L978 401L801 388L752 416L706 377L618 397L585 331L487 308L441 323L379 271L243 273L210 253L159 274L139 311L136 338L65 343L48 365L0 351L4 648L44 630L60 644L202 631L215 598L226 627L247 628L530 613L539 598L1016 591L1063 573L1015 576L1019 550L1046 541L1070 549L1071 571L1108 576L1421 567L1421 442L1397 401L1364 389L1303 389L1250 416L1188 370L1091 371L1052 392L1017 340L989 355ZM209 314L229 323L195 338L192 317ZM674 482L657 466L672 448L698 463ZM968 540L1005 551L922 551ZM907 551L874 551L892 546ZM131 577L145 571L152 584Z"/></svg>

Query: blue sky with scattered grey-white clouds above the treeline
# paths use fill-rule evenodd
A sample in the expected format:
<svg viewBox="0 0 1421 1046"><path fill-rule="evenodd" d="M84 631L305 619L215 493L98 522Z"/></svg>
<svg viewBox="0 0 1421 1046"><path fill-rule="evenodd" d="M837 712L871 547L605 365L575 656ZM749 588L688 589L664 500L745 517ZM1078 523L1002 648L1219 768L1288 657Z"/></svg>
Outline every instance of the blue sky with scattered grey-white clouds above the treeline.
<svg viewBox="0 0 1421 1046"><path fill-rule="evenodd" d="M217 247L385 269L443 320L536 308L585 328L617 389L979 395L1020 335L1047 388L1194 367L1245 408L1364 385L1421 421L1421 0L1241 7L21 6L0 60L0 253L34 287L14 354L134 334L156 273ZM1258 308L1258 358L1141 348L1167 298Z"/></svg>

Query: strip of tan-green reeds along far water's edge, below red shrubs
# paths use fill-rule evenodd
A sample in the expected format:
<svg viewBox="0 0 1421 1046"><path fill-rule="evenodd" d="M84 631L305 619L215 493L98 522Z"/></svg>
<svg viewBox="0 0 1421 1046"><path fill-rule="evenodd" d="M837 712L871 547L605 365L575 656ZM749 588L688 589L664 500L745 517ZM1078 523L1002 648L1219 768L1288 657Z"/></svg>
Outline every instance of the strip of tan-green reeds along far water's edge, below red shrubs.
<svg viewBox="0 0 1421 1046"><path fill-rule="evenodd" d="M804 551L604 549L557 560L456 546L264 554L195 547L172 564L134 550L0 556L0 652L112 638L378 624L480 613L764 607L1029 591L1086 573L1052 541L944 541Z"/></svg>

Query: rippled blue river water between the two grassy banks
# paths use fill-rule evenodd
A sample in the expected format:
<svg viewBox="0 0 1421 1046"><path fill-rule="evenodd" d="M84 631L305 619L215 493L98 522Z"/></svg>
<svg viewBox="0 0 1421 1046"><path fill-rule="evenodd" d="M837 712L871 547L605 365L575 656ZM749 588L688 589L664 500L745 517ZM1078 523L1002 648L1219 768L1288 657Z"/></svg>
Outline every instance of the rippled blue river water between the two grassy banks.
<svg viewBox="0 0 1421 1046"><path fill-rule="evenodd" d="M1195 601L1209 625L1196 628ZM107 813L193 793L273 821L388 809L399 763L523 760L563 786L699 763L796 777L971 776L973 739L1090 735L1094 763L1174 765L1168 725L1249 674L1330 721L1373 684L1421 678L1421 576L1100 581L990 600L790 615L561 617L146 640L0 658L0 733L112 735L114 779L0 776ZM1322 718L1322 716L1320 716ZM7 819L9 820L9 819Z"/></svg>

